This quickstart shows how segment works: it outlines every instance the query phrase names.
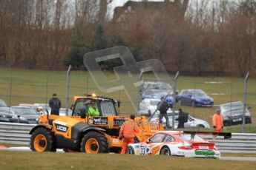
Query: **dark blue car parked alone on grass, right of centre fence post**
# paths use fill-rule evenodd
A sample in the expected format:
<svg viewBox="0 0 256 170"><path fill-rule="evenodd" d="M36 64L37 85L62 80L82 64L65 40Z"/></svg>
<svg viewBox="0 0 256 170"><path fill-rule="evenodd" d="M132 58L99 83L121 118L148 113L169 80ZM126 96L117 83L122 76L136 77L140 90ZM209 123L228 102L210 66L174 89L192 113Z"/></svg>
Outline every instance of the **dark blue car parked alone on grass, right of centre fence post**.
<svg viewBox="0 0 256 170"><path fill-rule="evenodd" d="M177 95L177 102L180 105L188 106L213 106L213 98L206 95L201 89L183 89L179 95Z"/></svg>

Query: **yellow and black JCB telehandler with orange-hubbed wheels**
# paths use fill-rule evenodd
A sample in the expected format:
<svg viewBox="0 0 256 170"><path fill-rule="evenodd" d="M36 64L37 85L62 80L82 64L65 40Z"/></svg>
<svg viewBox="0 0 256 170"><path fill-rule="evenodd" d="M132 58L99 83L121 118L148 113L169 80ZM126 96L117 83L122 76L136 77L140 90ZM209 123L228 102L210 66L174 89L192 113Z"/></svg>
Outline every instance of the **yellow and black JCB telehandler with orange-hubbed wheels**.
<svg viewBox="0 0 256 170"><path fill-rule="evenodd" d="M119 152L119 128L125 118L119 117L112 98L85 95L74 97L71 116L42 114L39 124L30 130L30 149L36 152L56 152L56 149L86 153ZM99 116L88 115L88 104L94 101ZM145 141L163 130L161 124L148 123L145 117L136 118L140 133L136 140Z"/></svg>

